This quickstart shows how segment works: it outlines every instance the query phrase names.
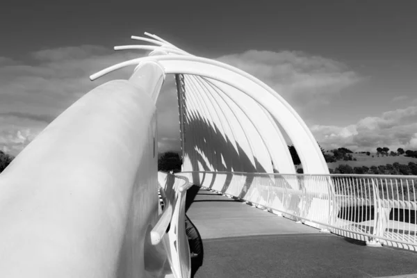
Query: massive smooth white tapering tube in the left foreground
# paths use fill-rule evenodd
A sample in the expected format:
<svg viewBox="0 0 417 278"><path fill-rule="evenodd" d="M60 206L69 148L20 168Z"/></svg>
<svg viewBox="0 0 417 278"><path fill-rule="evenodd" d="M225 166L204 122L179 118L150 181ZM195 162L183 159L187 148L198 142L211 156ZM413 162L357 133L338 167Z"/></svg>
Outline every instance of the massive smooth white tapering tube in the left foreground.
<svg viewBox="0 0 417 278"><path fill-rule="evenodd" d="M163 72L145 71L158 85ZM151 92L95 88L0 174L0 277L162 275L163 247L147 240L158 219Z"/></svg>

